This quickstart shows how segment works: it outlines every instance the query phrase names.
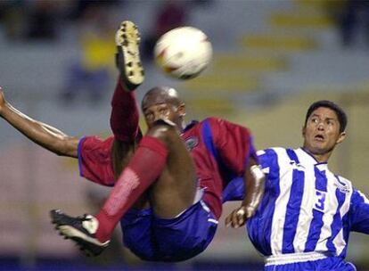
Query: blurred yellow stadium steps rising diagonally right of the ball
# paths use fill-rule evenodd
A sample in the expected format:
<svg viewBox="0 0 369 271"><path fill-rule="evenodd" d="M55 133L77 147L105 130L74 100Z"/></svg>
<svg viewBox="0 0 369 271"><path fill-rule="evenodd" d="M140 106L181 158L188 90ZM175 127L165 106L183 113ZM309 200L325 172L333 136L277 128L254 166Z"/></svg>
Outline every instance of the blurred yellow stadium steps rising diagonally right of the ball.
<svg viewBox="0 0 369 271"><path fill-rule="evenodd" d="M332 21L320 7L295 1L282 9L264 12L263 17L266 29L240 32L235 37L238 53L216 53L201 77L179 84L190 95L202 98L211 91L220 97L219 101L212 98L209 103L193 101L192 108L230 113L229 107L237 106L242 96L266 93L270 90L268 78L273 82L273 78L293 71L296 63L291 61L291 55L320 50L316 30L332 27ZM218 108L217 104L221 106Z"/></svg>

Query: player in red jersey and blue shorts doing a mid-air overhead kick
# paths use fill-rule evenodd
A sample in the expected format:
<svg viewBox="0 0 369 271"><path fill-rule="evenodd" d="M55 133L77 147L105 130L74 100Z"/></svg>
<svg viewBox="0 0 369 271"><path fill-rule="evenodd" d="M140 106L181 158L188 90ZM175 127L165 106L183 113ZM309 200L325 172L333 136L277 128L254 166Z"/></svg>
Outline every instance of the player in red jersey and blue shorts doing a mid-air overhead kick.
<svg viewBox="0 0 369 271"><path fill-rule="evenodd" d="M144 95L143 136L134 92L144 78L138 41L135 24L124 21L116 36L121 77L108 139L66 136L12 108L2 93L0 116L46 149L78 158L83 177L113 186L94 216L51 211L60 233L82 250L100 254L120 221L125 245L141 259L189 259L212 240L231 179L245 181L242 205L231 214L233 225L242 226L262 199L264 175L248 128L217 118L185 126L184 103L171 87L156 86Z"/></svg>

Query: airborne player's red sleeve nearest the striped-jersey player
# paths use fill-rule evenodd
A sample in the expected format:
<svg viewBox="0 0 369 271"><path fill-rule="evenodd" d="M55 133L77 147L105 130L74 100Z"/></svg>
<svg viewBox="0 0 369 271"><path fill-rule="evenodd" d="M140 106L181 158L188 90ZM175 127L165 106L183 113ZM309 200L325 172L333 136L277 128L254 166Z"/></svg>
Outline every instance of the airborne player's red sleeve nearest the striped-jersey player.
<svg viewBox="0 0 369 271"><path fill-rule="evenodd" d="M234 174L242 176L250 156L257 158L250 130L225 119L209 118L209 123L220 160Z"/></svg>

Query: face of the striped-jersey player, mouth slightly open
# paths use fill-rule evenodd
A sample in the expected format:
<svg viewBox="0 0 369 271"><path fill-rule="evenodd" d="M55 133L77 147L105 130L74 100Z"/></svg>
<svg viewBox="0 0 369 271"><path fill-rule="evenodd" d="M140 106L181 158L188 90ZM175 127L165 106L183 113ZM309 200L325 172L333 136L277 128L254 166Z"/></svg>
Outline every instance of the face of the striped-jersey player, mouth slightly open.
<svg viewBox="0 0 369 271"><path fill-rule="evenodd" d="M328 160L336 144L343 141L344 132L340 132L340 121L335 111L319 107L307 119L302 129L304 148L313 156ZM318 159L319 160L319 159Z"/></svg>

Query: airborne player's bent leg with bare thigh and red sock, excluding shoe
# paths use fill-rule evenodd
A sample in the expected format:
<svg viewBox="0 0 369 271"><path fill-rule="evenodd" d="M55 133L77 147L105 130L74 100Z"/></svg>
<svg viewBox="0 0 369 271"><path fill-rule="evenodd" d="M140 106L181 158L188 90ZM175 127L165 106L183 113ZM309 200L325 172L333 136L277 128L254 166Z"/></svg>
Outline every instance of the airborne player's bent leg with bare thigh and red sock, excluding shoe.
<svg viewBox="0 0 369 271"><path fill-rule="evenodd" d="M174 218L193 204L196 193L193 160L176 127L167 124L149 130L122 171L109 199L96 216L101 222L96 233L99 240L110 238L120 218L154 183L150 200L155 214L161 218Z"/></svg>

